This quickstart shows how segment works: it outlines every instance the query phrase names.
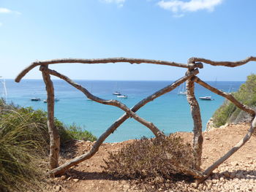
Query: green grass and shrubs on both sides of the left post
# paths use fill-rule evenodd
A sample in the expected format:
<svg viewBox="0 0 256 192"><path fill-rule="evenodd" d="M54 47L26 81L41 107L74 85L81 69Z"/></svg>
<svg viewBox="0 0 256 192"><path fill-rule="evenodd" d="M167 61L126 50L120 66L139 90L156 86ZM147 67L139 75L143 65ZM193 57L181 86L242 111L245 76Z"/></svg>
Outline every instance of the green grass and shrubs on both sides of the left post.
<svg viewBox="0 0 256 192"><path fill-rule="evenodd" d="M96 137L55 119L61 145L72 139ZM42 191L48 168L47 113L0 100L0 191Z"/></svg>

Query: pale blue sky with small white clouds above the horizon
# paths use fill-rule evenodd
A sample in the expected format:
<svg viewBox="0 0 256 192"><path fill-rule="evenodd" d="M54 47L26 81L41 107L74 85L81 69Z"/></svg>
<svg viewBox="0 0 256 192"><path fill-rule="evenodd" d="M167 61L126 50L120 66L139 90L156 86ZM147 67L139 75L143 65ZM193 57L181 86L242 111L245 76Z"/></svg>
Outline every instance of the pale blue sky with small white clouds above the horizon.
<svg viewBox="0 0 256 192"><path fill-rule="evenodd" d="M256 56L255 0L0 0L0 76L15 78L32 61L53 58ZM204 65L203 80L246 80L256 62ZM73 79L176 80L186 69L153 64L59 64ZM34 69L26 78L41 79Z"/></svg>

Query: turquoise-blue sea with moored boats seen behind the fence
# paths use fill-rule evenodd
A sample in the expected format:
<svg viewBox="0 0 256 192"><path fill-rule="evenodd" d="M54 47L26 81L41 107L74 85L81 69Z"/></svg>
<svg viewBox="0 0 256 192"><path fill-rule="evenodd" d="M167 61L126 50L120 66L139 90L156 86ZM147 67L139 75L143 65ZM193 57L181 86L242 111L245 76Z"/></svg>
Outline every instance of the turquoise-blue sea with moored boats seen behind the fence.
<svg viewBox="0 0 256 192"><path fill-rule="evenodd" d="M127 107L133 107L142 99L170 85L173 81L75 80L75 82L83 85L95 96L102 99L117 99L126 104ZM208 82L209 85L226 92L237 91L242 83L235 81ZM13 102L22 107L33 107L35 110L47 110L47 104L43 102L47 94L42 80L21 80L19 83L14 80L6 80L5 85L8 103ZM88 100L83 93L64 80L53 80L53 85L55 96L59 99L55 104L55 116L66 125L75 124L99 137L124 114L117 107ZM178 91L182 91L182 88L183 85L151 101L138 110L137 114L154 123L165 134L176 131L192 131L193 122L187 98L177 94ZM114 91L119 91L127 95L128 98L117 98L113 95ZM195 96L200 104L203 130L205 130L207 121L221 106L224 98L196 83ZM214 100L200 100L198 99L200 96L211 96ZM41 100L31 101L35 97ZM105 142L121 142L128 139L140 139L141 137L154 137L154 135L146 126L129 118L113 134L110 134Z"/></svg>

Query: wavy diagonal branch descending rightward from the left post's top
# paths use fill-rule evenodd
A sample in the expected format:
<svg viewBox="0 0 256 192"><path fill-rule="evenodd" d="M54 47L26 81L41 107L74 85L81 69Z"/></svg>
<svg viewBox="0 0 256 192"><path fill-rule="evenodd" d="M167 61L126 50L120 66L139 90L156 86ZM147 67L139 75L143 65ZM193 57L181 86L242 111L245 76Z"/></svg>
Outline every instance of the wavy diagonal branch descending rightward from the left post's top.
<svg viewBox="0 0 256 192"><path fill-rule="evenodd" d="M111 100L100 99L99 97L92 95L86 88L83 88L83 86L81 86L78 83L70 80L69 77L67 77L63 74L60 74L59 72L56 72L54 70L47 69L47 68L42 68L42 67L40 68L40 70L42 72L47 72L48 74L52 74L56 77L59 77L62 80L65 80L66 82L68 82L70 85L72 85L73 87L80 90L89 99L91 99L93 101L96 101L96 102L101 103L101 104L116 106L116 107L120 108L121 110L124 110L124 112L127 112L129 117L134 118L135 120L137 120L138 122L140 122L144 126L148 127L154 133L154 135L156 137L164 137L165 136L165 134L163 134L162 131L160 131L157 128L157 126L154 125L154 123L148 122L147 120L144 120L143 118L140 118L140 116L138 116L135 112L130 110L129 107L127 107L125 104L121 103L120 101L113 100L113 99L111 99Z"/></svg>

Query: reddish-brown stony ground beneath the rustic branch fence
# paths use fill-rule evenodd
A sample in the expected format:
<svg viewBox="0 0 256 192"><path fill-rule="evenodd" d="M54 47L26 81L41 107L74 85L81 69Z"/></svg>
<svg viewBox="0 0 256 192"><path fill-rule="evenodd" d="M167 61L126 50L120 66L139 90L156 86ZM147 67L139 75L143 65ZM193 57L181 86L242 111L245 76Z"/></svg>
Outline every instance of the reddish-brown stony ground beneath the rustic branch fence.
<svg viewBox="0 0 256 192"><path fill-rule="evenodd" d="M229 125L203 133L202 169L206 169L230 147L236 145L244 137L248 128L248 124ZM177 134L187 142L192 141L192 133ZM148 191L148 188L136 185L134 181L115 180L102 172L102 166L105 165L103 159L108 159L108 152L117 151L129 142L132 141L103 144L92 158L78 164L62 177L53 179L53 191ZM62 152L66 158L62 158L61 161L86 153L91 145L92 142L75 142ZM195 183L184 181L177 184L177 188L169 191L256 191L256 137L252 137L246 145L219 166L206 182L197 187ZM161 189L151 188L151 191L161 191Z"/></svg>

